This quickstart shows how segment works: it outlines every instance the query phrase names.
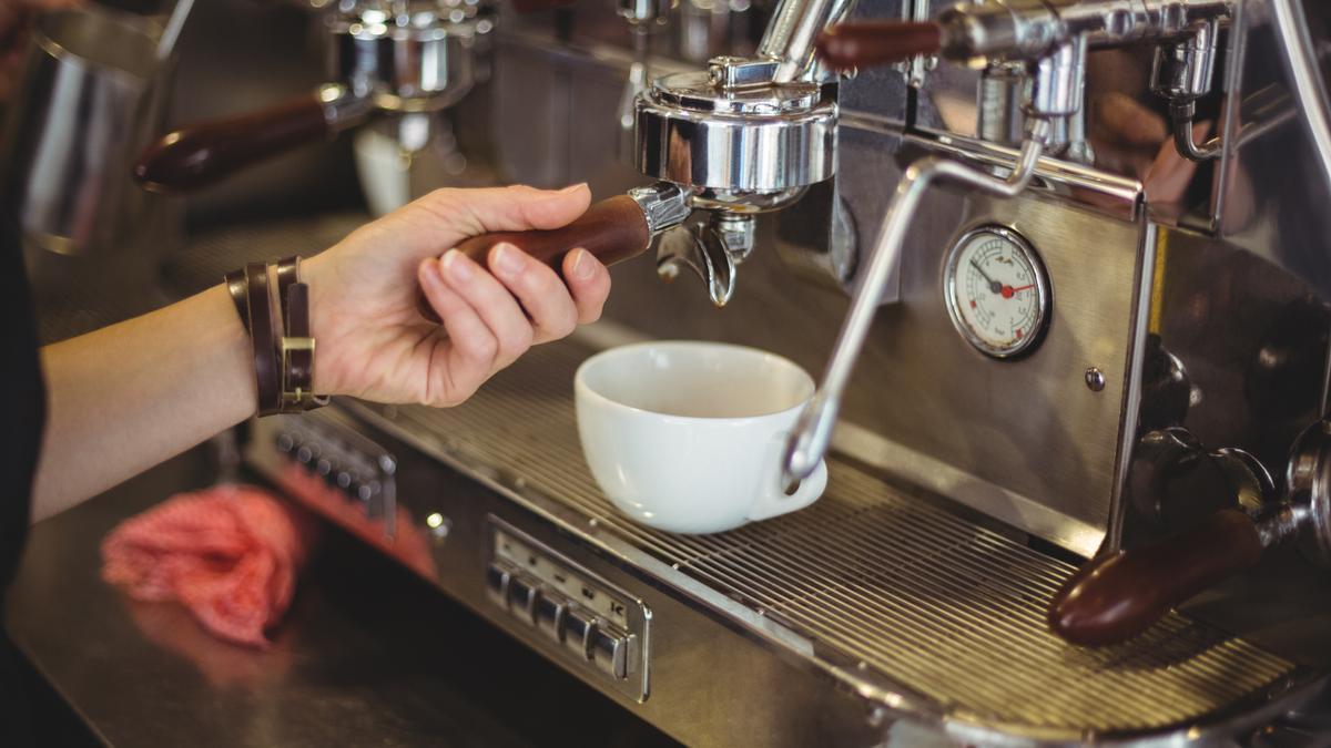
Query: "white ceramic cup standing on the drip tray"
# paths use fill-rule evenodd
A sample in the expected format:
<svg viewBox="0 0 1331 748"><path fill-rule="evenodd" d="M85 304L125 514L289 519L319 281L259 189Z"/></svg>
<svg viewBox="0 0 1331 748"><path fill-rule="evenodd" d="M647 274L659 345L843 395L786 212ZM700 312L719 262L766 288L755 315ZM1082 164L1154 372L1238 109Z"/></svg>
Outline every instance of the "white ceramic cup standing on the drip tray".
<svg viewBox="0 0 1331 748"><path fill-rule="evenodd" d="M813 397L799 366L761 350L647 342L588 358L574 377L578 434L620 511L672 532L720 532L817 500L827 466L787 495L785 438Z"/></svg>

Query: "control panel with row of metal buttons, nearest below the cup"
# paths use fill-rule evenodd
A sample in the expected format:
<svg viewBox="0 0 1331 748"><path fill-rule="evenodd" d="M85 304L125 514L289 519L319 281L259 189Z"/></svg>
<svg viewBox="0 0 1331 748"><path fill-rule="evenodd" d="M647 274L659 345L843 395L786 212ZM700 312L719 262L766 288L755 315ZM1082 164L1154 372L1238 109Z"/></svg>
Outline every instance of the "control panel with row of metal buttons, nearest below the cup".
<svg viewBox="0 0 1331 748"><path fill-rule="evenodd" d="M647 699L651 610L539 540L491 516L486 594L531 626L572 669Z"/></svg>

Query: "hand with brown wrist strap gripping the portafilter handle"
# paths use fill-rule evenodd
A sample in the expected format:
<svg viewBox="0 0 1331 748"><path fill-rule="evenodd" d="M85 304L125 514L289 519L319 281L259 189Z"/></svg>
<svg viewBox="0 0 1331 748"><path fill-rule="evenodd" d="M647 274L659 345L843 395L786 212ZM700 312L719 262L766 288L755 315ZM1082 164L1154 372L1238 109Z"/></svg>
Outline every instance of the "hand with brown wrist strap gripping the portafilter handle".
<svg viewBox="0 0 1331 748"><path fill-rule="evenodd" d="M586 185L442 189L367 224L307 261L314 390L379 402L457 405L531 345L600 317L610 273L588 252L564 281L512 245L488 272L458 252L488 232L556 229L587 210ZM443 321L427 321L419 294Z"/></svg>

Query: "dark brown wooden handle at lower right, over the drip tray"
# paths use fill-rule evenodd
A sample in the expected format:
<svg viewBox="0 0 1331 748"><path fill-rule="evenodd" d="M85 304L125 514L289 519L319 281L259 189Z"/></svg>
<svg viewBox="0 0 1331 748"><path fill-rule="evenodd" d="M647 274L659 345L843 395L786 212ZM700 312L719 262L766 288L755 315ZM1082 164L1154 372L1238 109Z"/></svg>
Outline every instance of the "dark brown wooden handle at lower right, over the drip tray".
<svg viewBox="0 0 1331 748"><path fill-rule="evenodd" d="M1238 510L1215 512L1155 546L1086 562L1054 595L1049 627L1073 644L1126 642L1170 608L1255 564L1262 550L1251 518Z"/></svg>

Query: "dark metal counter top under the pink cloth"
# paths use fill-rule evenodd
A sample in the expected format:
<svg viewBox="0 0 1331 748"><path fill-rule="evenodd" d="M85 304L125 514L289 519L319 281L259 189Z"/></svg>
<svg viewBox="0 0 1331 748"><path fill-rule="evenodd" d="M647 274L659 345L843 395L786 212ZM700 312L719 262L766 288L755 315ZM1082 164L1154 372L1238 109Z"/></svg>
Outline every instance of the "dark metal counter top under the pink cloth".
<svg viewBox="0 0 1331 748"><path fill-rule="evenodd" d="M205 458L194 450L39 523L11 588L19 651L108 745L672 744L333 527L264 652L101 582L102 536L206 486Z"/></svg>

